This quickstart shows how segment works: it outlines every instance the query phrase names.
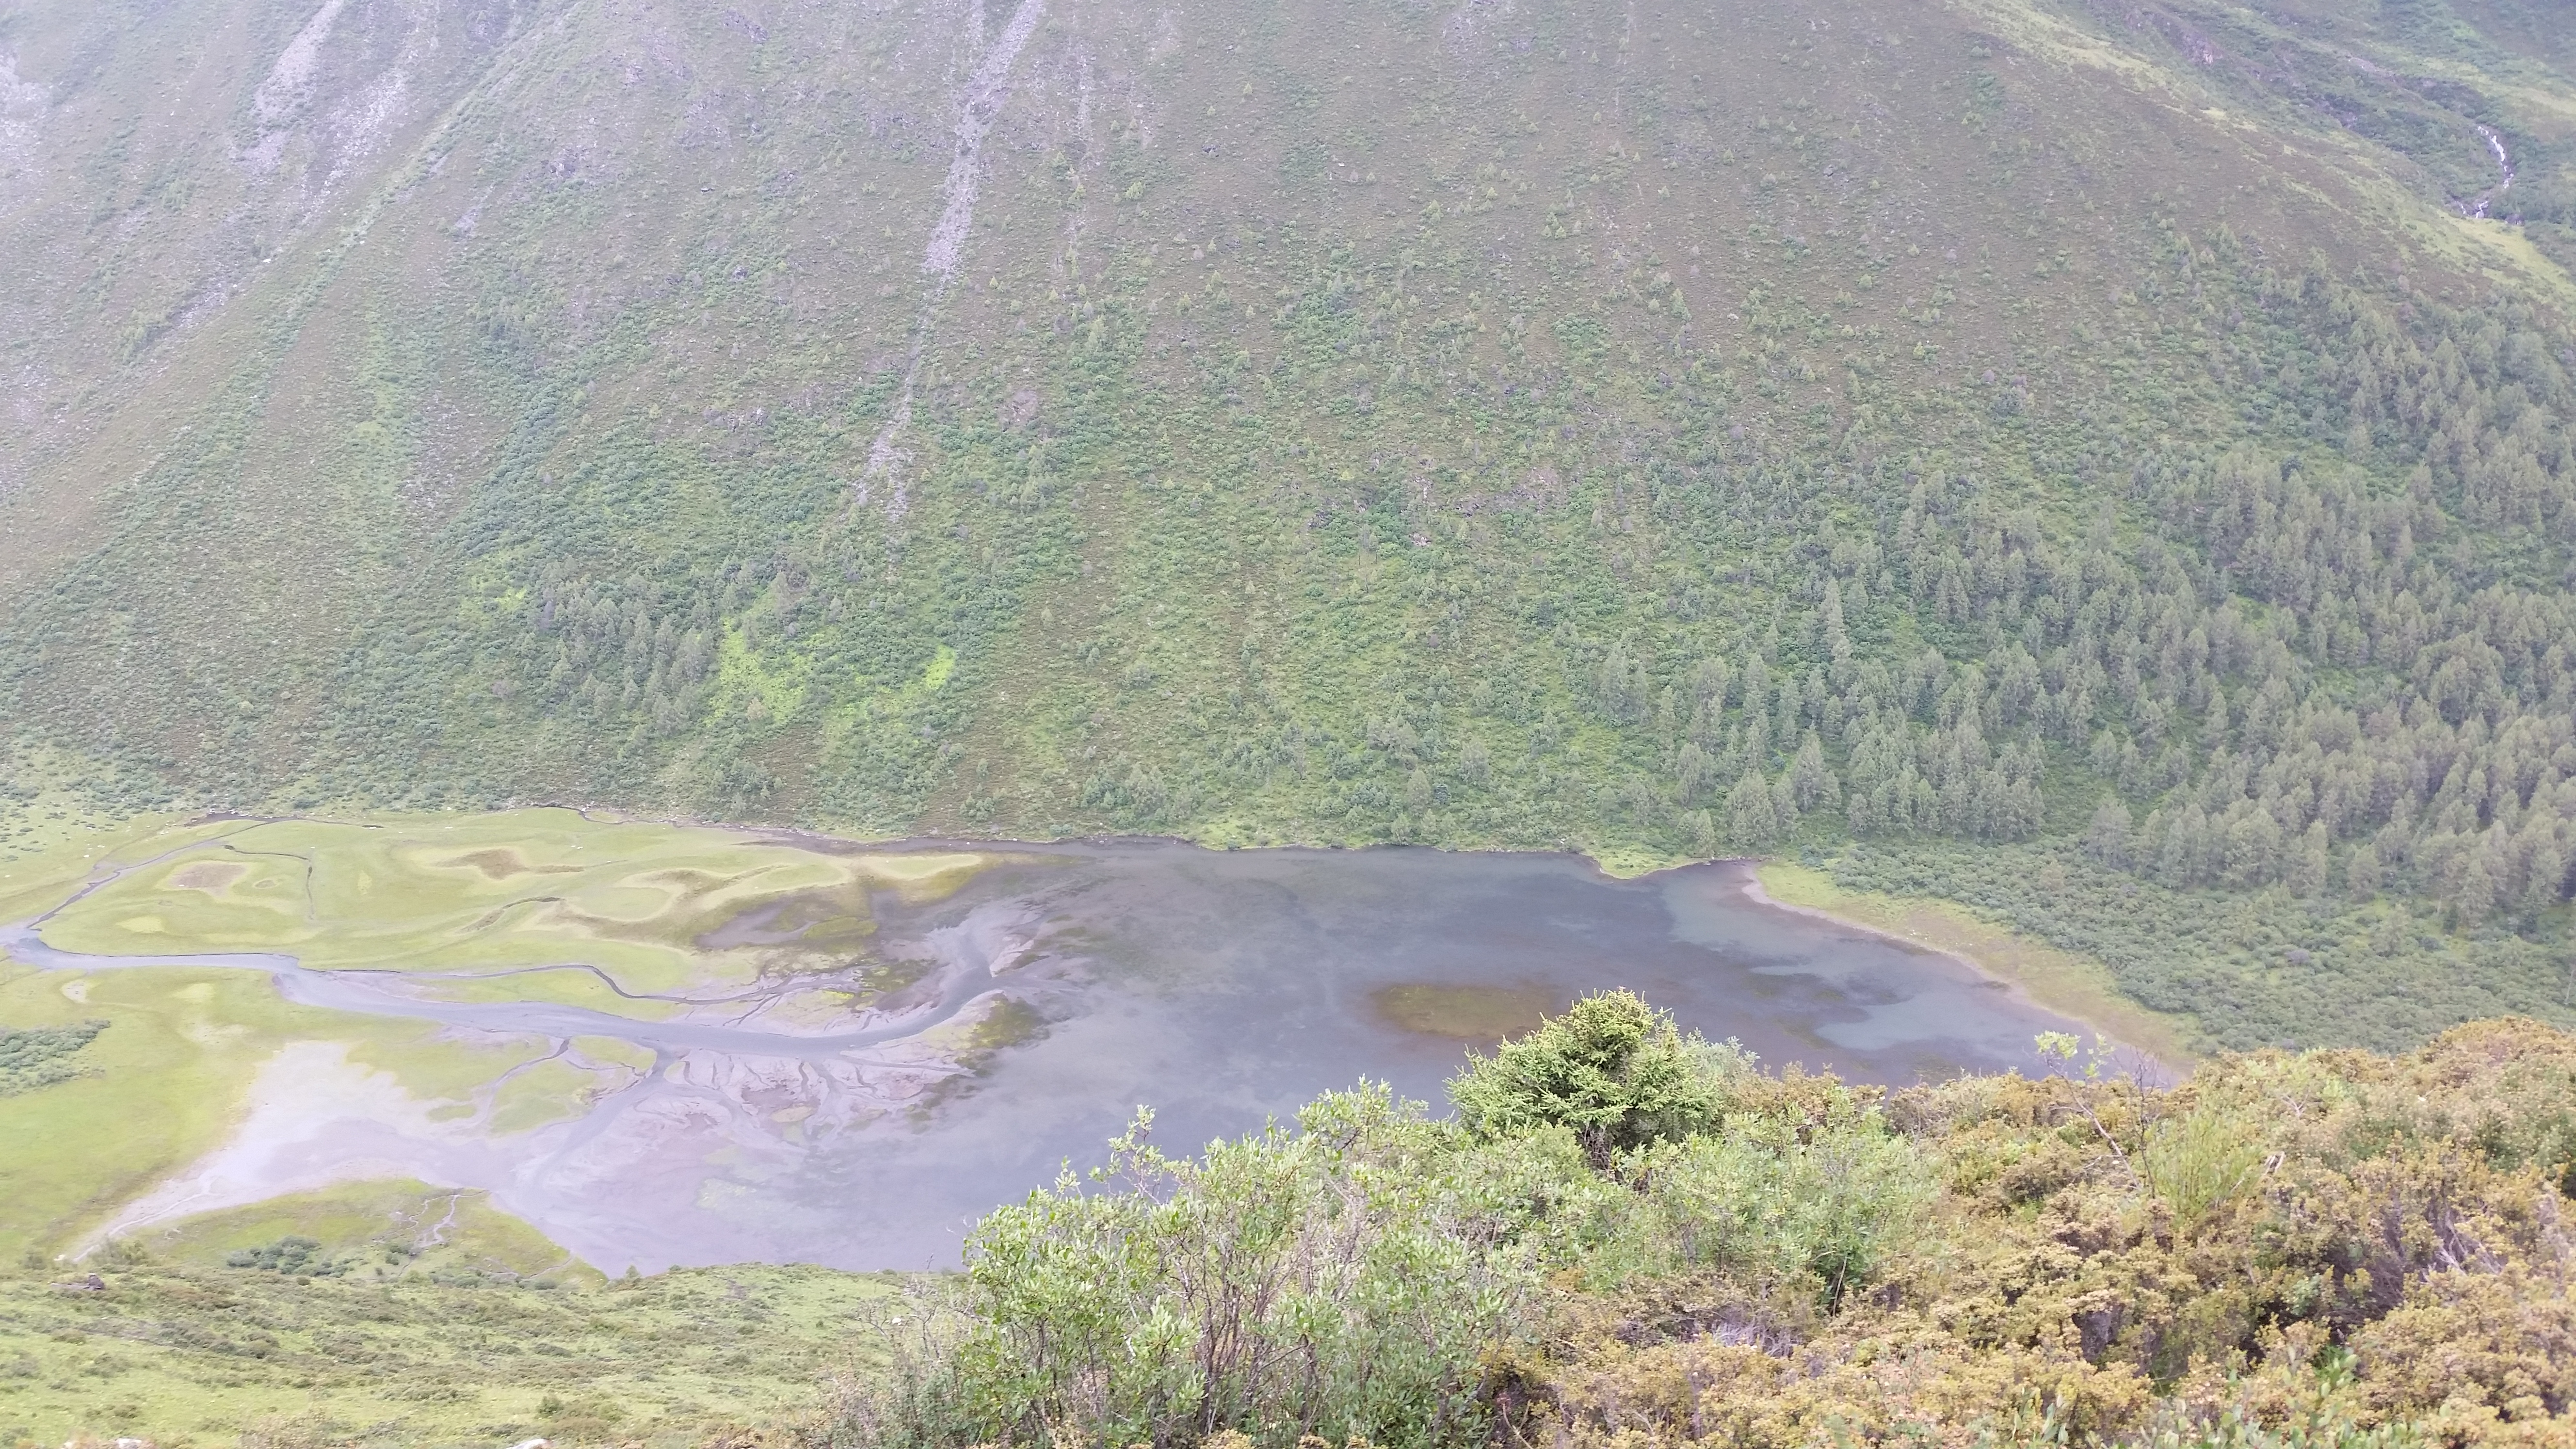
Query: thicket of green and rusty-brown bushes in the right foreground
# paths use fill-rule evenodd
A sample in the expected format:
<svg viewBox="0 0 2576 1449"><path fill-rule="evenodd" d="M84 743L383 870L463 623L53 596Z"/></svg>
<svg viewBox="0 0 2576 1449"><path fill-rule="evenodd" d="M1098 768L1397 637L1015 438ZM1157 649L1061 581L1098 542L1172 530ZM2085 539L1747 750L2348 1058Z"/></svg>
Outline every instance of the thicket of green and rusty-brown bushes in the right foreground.
<svg viewBox="0 0 2576 1449"><path fill-rule="evenodd" d="M1893 1096L1602 998L984 1220L840 1444L2576 1444L2576 1039Z"/></svg>

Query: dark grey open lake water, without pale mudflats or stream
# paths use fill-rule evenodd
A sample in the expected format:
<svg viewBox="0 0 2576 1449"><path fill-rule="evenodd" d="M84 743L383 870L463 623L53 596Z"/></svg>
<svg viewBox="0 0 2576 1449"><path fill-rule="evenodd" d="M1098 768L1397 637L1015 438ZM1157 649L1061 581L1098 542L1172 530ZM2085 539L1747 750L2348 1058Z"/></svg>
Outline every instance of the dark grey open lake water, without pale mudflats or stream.
<svg viewBox="0 0 2576 1449"><path fill-rule="evenodd" d="M909 926L1033 910L1038 954L1090 977L1069 1016L933 1127L817 1152L783 1183L799 1209L860 1232L871 1266L953 1261L974 1214L1064 1158L1100 1160L1136 1106L1154 1109L1167 1152L1360 1078L1445 1111L1440 1088L1468 1049L1450 1026L1471 1021L1437 1021L1443 998L1448 1016L1517 1029L1535 1003L1631 987L1770 1067L1891 1085L2040 1070L2032 1036L2079 1031L1950 957L1749 900L1744 866L1620 882L1571 856L1048 853L1056 864L989 871Z"/></svg>

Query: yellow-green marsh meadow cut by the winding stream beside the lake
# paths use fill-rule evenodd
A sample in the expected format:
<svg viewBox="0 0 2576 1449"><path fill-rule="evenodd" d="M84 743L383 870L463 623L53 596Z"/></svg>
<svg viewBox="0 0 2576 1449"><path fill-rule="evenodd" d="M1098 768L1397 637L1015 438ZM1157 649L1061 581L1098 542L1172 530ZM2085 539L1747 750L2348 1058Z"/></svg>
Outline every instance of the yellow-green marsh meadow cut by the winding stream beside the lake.
<svg viewBox="0 0 2576 1449"><path fill-rule="evenodd" d="M938 897L984 864L963 851L822 853L569 810L144 820L13 861L0 892L18 920L62 908L44 926L59 949L286 951L327 969L456 972L438 982L451 1000L662 1018L680 1008L621 990L706 993L866 967L871 892ZM737 920L760 928L726 933ZM822 993L806 1006L848 1000ZM479 1119L502 1134L572 1116L654 1065L649 1049L608 1039L569 1049L533 1034L466 1042L430 1021L309 1011L263 972L222 967L33 972L0 962L0 1085L10 1088L0 1091L0 1253L10 1256L85 1240L211 1152L260 1067L294 1042L345 1044L348 1062L389 1073L433 1119ZM974 1049L992 1052L1036 1024L1005 1013L979 1031Z"/></svg>

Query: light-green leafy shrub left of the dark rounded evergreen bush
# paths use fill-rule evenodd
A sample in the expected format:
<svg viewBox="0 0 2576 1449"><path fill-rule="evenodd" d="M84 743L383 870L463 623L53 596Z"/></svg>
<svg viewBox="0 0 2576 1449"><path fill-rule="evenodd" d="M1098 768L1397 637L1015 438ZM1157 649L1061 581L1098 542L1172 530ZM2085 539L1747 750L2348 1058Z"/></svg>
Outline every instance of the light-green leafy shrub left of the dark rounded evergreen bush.
<svg viewBox="0 0 2576 1449"><path fill-rule="evenodd" d="M1066 1176L989 1214L953 1302L927 1307L958 1320L935 1361L868 1385L845 1423L876 1444L1481 1439L1479 1356L1538 1279L1453 1132L1383 1088L1198 1160L1146 1127L1113 1142L1118 1191Z"/></svg>

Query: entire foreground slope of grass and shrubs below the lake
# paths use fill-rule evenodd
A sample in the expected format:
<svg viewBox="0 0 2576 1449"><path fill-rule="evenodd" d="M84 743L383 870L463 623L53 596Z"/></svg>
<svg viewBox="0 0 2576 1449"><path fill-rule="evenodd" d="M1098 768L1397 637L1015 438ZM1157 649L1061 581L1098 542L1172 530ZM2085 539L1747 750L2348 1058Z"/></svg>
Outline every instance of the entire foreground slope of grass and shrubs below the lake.
<svg viewBox="0 0 2576 1449"><path fill-rule="evenodd" d="M963 1274L600 1279L353 1183L0 1271L0 1446L2576 1436L2576 1036L1860 1088L1633 995L992 1212ZM67 1091L67 1088L49 1088ZM817 1397L819 1392L819 1397Z"/></svg>

